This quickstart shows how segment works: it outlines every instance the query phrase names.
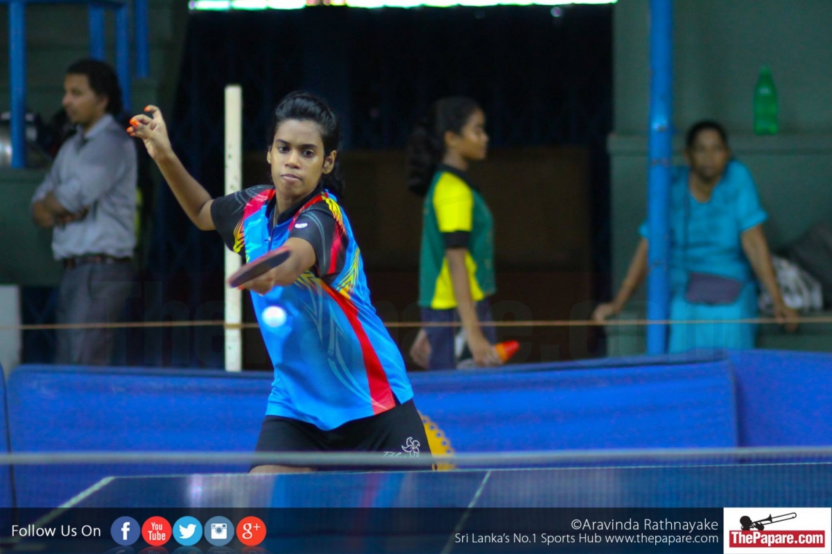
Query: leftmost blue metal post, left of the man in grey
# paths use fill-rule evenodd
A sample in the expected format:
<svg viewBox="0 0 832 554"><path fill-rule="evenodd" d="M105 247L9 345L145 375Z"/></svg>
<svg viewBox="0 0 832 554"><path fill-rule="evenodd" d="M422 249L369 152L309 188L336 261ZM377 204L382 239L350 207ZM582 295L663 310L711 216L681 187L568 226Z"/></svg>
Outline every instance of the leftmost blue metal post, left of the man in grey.
<svg viewBox="0 0 832 554"><path fill-rule="evenodd" d="M8 2L9 81L12 93L12 167L26 167L26 5Z"/></svg>

